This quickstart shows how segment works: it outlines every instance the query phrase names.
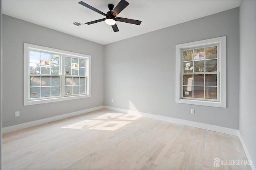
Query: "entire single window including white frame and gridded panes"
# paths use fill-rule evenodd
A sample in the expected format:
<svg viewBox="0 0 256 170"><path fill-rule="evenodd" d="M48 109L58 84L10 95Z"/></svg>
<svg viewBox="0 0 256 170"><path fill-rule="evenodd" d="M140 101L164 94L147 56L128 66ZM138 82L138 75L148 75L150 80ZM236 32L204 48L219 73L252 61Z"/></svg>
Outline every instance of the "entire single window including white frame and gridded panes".
<svg viewBox="0 0 256 170"><path fill-rule="evenodd" d="M176 45L176 102L226 107L226 37Z"/></svg>

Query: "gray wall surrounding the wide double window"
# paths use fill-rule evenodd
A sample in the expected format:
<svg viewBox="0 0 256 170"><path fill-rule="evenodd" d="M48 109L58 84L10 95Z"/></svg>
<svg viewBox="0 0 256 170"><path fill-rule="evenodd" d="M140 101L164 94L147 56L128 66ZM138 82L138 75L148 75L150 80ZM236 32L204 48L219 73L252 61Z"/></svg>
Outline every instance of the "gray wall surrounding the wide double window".
<svg viewBox="0 0 256 170"><path fill-rule="evenodd" d="M104 46L3 15L2 127L103 105ZM23 106L23 43L92 56L91 98ZM20 111L20 117L15 117Z"/></svg>

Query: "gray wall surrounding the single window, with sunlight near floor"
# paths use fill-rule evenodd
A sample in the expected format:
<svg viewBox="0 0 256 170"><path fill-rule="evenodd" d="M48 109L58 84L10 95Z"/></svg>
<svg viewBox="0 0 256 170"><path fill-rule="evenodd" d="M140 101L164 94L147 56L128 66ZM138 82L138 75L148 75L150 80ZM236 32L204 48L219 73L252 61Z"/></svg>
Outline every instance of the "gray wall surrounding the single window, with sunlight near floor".
<svg viewBox="0 0 256 170"><path fill-rule="evenodd" d="M221 36L227 108L176 103L175 45ZM239 129L239 8L105 45L104 67L106 106Z"/></svg>

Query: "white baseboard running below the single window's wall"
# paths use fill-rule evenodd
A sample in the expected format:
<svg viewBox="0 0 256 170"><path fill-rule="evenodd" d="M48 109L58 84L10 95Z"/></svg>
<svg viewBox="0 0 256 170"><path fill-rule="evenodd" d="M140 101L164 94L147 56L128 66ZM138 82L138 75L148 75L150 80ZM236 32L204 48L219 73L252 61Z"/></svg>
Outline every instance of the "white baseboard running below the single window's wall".
<svg viewBox="0 0 256 170"><path fill-rule="evenodd" d="M197 128L206 129L209 131L225 133L228 135L238 136L238 132L239 132L239 130L237 130L237 129L231 129L231 128L221 127L221 126L216 126L216 125L209 125L206 123L199 123L199 122L188 121L188 120L184 120L184 119L177 119L177 118L172 118L172 117L166 117L166 116L161 116L161 115L154 115L154 114L150 114L150 113L143 113L140 111L120 109L120 108L110 107L110 106L104 106L104 109L120 111L120 112L128 113L131 115L138 115L138 116L142 116L142 117L148 117L148 118L152 118L152 119L168 121L171 123L177 123L177 124L191 126L191 127L197 127Z"/></svg>

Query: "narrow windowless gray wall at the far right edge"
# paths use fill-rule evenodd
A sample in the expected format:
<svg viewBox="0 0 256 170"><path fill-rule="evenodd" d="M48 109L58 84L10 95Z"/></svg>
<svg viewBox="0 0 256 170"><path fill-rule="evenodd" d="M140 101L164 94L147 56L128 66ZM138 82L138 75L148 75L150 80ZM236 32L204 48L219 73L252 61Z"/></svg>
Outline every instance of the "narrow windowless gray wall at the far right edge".
<svg viewBox="0 0 256 170"><path fill-rule="evenodd" d="M256 165L256 0L240 5L240 133Z"/></svg>

